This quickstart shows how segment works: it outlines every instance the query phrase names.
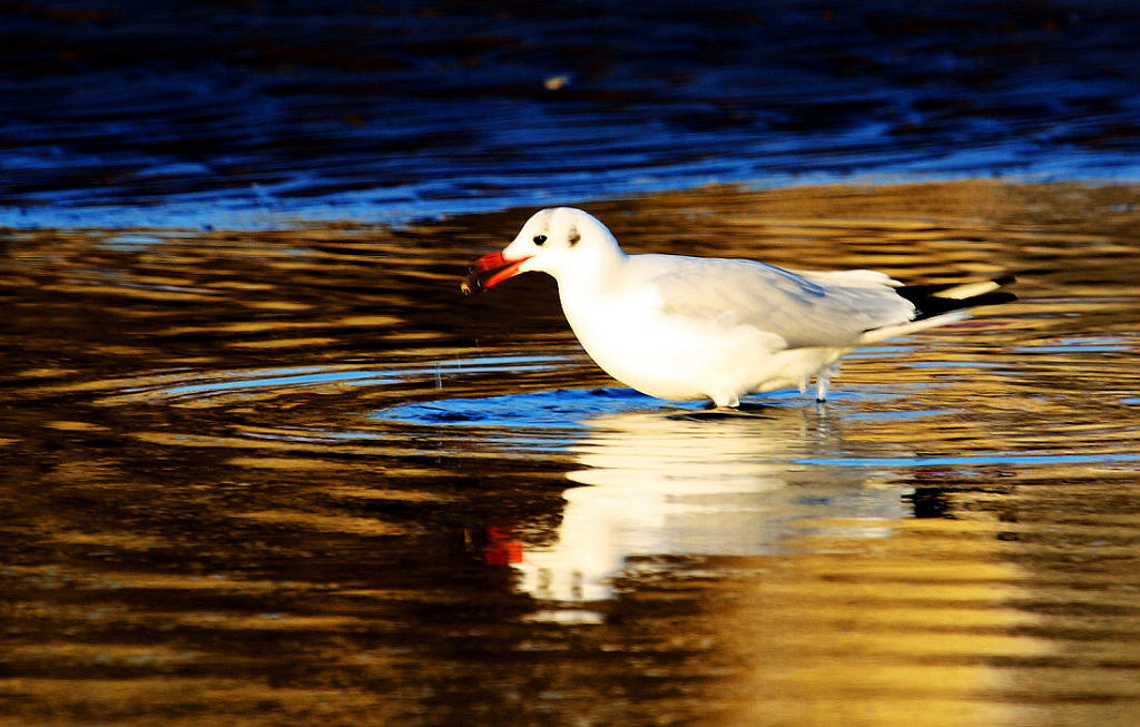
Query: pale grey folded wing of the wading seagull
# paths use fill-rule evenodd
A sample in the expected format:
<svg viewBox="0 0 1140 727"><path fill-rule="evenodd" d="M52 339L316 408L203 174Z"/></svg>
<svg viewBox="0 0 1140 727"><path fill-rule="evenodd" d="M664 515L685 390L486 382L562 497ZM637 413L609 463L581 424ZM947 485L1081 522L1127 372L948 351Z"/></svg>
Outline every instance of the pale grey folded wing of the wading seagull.
<svg viewBox="0 0 1140 727"><path fill-rule="evenodd" d="M754 260L634 255L634 275L662 312L781 336L789 349L848 346L873 328L914 318L898 283L871 270L792 271Z"/></svg>

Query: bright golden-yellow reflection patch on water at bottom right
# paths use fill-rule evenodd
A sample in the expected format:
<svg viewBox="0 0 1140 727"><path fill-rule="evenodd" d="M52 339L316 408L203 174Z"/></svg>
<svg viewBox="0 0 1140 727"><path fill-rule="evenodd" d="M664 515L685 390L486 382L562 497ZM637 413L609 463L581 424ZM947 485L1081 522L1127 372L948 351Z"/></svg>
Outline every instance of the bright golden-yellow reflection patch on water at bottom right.
<svg viewBox="0 0 1140 727"><path fill-rule="evenodd" d="M764 654L738 724L994 725L1029 717L999 664L1048 656L1019 634L1034 619L1008 607L1024 574L993 536L921 522L874 541L813 538L820 555L789 558L725 613L735 643ZM829 553L830 550L830 553ZM993 697L1001 694L1001 700ZM1012 697L1012 699L1011 699Z"/></svg>

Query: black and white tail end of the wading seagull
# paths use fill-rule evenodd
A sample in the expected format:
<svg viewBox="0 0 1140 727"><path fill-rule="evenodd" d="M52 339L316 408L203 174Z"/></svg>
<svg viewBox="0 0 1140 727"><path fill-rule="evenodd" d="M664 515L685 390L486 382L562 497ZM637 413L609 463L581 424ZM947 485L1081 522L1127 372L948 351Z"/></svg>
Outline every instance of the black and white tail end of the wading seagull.
<svg viewBox="0 0 1140 727"><path fill-rule="evenodd" d="M927 328L945 326L969 318L968 309L970 308L1016 301L1016 295L1001 289L1013 280L1013 276L1004 275L977 283L905 285L895 288L895 293L914 304L914 318L905 324L872 328L860 337L860 343L877 343Z"/></svg>

